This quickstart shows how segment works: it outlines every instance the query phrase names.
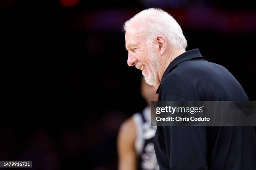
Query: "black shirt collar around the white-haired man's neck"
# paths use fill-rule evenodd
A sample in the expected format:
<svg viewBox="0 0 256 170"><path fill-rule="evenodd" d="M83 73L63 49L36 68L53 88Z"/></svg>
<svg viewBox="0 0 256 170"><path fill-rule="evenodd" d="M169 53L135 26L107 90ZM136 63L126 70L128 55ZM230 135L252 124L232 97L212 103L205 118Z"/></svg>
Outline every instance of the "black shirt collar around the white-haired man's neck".
<svg viewBox="0 0 256 170"><path fill-rule="evenodd" d="M182 53L181 55L179 55L178 57L174 58L174 60L169 64L169 66L164 71L164 74L163 74L163 77L161 79L161 82L168 75L168 73L172 71L172 69L176 65L178 65L181 62L184 62L184 61L187 61L187 60L191 60L193 58L198 58L198 57L202 58L202 55L201 55L200 51L198 50L198 48L196 48L196 49L193 49L193 50L188 50L188 51ZM159 93L160 86L161 86L161 84L159 85L158 89L156 90L156 93Z"/></svg>

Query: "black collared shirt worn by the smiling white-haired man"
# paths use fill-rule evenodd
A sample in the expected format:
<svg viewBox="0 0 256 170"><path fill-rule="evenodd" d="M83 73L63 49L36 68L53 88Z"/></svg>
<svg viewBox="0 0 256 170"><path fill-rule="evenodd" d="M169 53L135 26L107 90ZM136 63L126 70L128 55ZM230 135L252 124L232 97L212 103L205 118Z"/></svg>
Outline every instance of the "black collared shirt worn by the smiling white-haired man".
<svg viewBox="0 0 256 170"><path fill-rule="evenodd" d="M166 68L158 100L248 100L223 66L198 49L176 57ZM255 170L256 138L250 126L158 126L154 138L161 170Z"/></svg>

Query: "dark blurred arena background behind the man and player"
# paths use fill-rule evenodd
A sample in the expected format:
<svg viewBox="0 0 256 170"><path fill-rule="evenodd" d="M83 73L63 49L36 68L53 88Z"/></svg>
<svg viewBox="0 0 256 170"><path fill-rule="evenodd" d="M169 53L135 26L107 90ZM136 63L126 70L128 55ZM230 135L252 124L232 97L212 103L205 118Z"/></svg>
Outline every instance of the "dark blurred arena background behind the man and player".
<svg viewBox="0 0 256 170"><path fill-rule="evenodd" d="M33 169L117 168L118 128L146 103L123 23L161 7L187 50L226 67L256 100L256 10L243 0L1 0L0 160Z"/></svg>

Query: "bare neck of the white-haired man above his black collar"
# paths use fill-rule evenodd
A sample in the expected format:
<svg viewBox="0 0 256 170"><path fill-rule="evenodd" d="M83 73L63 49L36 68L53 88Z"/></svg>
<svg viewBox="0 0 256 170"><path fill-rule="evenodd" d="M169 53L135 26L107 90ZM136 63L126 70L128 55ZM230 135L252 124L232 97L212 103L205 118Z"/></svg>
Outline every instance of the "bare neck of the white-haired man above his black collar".
<svg viewBox="0 0 256 170"><path fill-rule="evenodd" d="M166 60L162 61L161 65L163 67L160 66L159 69L159 80L161 81L163 75L164 75L164 71L166 70L166 68L170 65L170 63L179 55L183 54L184 52L186 52L185 49L172 49L170 50L168 56L163 57L166 58ZM159 83L160 84L160 83Z"/></svg>

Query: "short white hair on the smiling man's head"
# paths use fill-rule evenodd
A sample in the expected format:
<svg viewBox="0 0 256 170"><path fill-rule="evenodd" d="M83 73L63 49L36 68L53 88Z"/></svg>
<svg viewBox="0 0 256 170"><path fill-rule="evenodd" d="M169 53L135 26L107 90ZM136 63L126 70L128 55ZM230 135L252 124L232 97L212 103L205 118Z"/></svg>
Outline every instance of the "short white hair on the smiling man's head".
<svg viewBox="0 0 256 170"><path fill-rule="evenodd" d="M172 47L180 49L187 47L187 40L177 21L164 10L149 8L136 14L123 25L126 32L131 23L143 23L147 32L147 45L152 44L157 35L163 35Z"/></svg>

